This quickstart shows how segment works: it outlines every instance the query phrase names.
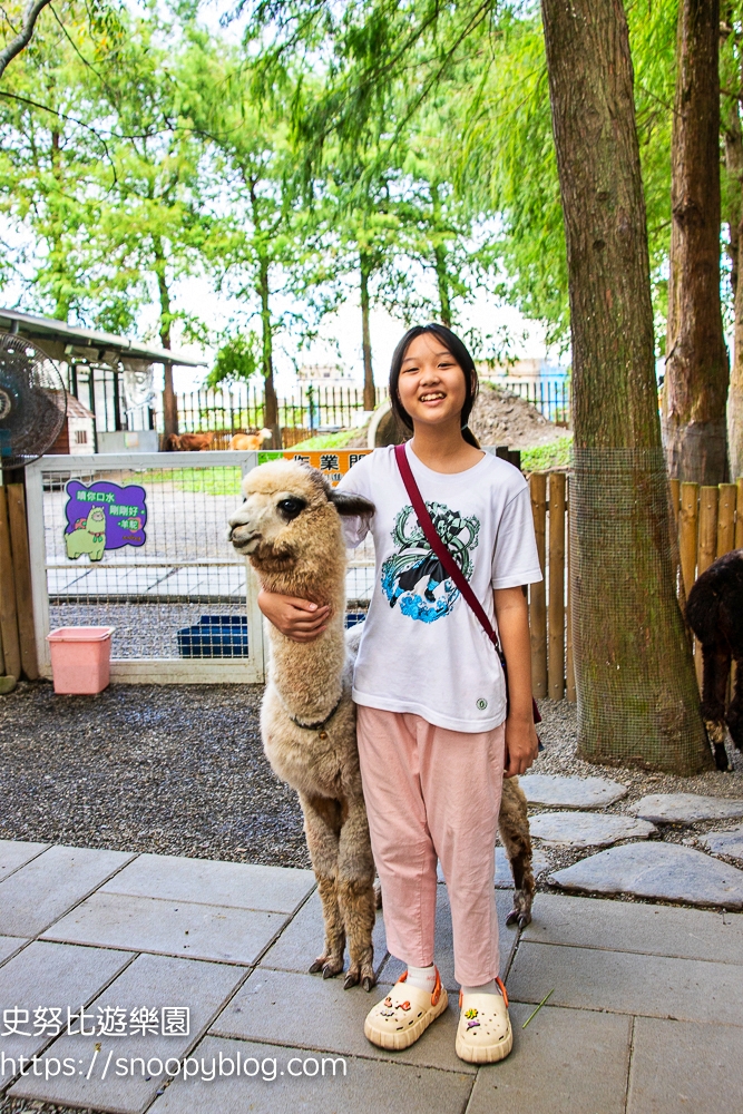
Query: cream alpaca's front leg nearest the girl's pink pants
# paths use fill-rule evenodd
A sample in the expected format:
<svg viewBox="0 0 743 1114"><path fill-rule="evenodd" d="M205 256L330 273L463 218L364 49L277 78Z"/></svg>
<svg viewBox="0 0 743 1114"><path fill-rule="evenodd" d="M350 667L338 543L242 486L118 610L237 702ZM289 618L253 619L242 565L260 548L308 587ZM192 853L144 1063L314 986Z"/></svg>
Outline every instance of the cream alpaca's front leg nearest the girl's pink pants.
<svg viewBox="0 0 743 1114"><path fill-rule="evenodd" d="M349 939L351 962L344 989L361 983L371 990L377 983L372 932L377 919L374 859L363 799L349 805L341 827L338 854L338 897Z"/></svg>

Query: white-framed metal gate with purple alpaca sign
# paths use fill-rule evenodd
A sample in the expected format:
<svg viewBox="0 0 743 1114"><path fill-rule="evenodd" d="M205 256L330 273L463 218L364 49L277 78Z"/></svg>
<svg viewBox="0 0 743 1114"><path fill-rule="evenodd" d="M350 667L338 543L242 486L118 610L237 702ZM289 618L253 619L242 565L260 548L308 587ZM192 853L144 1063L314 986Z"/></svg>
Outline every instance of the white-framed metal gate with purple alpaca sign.
<svg viewBox="0 0 743 1114"><path fill-rule="evenodd" d="M234 451L42 457L30 465L41 675L51 676L50 629L113 626L113 681L262 682L256 582L226 540L241 479L256 465L257 453ZM111 534L119 547L104 549Z"/></svg>

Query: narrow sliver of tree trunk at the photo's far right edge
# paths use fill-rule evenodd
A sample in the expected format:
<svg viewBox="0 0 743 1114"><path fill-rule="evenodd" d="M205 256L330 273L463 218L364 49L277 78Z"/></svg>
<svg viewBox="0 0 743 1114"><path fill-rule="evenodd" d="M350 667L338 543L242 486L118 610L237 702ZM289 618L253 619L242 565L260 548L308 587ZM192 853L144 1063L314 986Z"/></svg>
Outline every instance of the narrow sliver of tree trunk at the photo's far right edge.
<svg viewBox="0 0 743 1114"><path fill-rule="evenodd" d="M732 26L732 17L729 18ZM743 91L740 75L733 90ZM730 227L730 244L727 252L731 261L730 281L733 287L734 333L733 361L730 370L730 387L727 390L727 451L730 456L730 476L736 479L743 476L743 283L739 282L741 273L741 244L743 244L743 134L741 133L741 109L737 96L732 96L727 102L724 125L725 168L727 170L727 223Z"/></svg>

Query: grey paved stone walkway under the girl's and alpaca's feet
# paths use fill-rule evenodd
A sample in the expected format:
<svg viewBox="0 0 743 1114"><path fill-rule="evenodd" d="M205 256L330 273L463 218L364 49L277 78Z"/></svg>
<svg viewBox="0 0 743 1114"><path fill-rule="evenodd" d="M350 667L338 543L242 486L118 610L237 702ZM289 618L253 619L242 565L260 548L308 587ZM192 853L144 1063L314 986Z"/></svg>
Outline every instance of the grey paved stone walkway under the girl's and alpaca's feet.
<svg viewBox="0 0 743 1114"><path fill-rule="evenodd" d="M438 961L456 989L443 883L439 893ZM497 891L501 921L509 899ZM538 895L520 939L502 927L514 1053L479 1071L454 1055L456 994L408 1052L368 1044L379 991L306 974L321 925L309 871L0 841L0 1105L10 1095L116 1114L740 1110L743 915ZM377 956L383 987L400 964L381 916ZM53 1036L50 1009L66 1029L80 1006L92 1032ZM97 1032L117 1025L127 1034Z"/></svg>

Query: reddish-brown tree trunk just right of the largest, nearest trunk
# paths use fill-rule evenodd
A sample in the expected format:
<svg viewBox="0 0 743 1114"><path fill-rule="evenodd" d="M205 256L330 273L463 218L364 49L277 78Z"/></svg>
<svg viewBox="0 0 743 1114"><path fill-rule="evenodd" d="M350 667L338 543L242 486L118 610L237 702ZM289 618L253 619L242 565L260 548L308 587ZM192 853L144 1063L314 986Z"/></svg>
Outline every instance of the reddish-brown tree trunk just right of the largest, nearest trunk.
<svg viewBox="0 0 743 1114"><path fill-rule="evenodd" d="M720 2L681 0L663 434L671 475L722 483L729 363L720 304Z"/></svg>

